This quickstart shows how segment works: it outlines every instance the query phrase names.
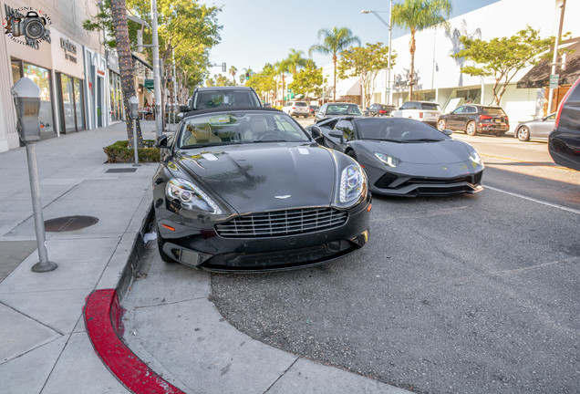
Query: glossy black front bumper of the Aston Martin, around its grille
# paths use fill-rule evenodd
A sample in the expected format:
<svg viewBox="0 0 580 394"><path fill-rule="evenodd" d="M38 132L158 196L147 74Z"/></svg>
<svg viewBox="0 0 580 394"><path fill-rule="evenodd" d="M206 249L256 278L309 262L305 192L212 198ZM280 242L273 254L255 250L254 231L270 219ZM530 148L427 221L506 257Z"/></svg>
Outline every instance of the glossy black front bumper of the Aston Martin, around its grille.
<svg viewBox="0 0 580 394"><path fill-rule="evenodd" d="M214 272L260 272L323 264L350 254L368 242L371 198L347 211L347 223L327 230L276 237L225 238L216 223L156 208L163 252L191 266ZM167 230L163 224L175 229Z"/></svg>

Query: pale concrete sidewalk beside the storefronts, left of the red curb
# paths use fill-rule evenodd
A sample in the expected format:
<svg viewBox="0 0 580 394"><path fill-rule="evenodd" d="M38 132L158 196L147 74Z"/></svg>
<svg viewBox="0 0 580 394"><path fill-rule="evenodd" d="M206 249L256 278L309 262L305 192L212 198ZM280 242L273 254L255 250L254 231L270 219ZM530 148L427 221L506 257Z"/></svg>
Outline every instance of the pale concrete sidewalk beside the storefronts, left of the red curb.
<svg viewBox="0 0 580 394"><path fill-rule="evenodd" d="M153 122L143 129L155 138ZM36 143L45 221L98 218L77 231L47 232L58 267L43 274L30 270L38 254L26 149L0 154L0 393L129 392L98 358L82 319L94 289L118 284L150 208L157 164L105 163L102 148L125 139L121 122Z"/></svg>

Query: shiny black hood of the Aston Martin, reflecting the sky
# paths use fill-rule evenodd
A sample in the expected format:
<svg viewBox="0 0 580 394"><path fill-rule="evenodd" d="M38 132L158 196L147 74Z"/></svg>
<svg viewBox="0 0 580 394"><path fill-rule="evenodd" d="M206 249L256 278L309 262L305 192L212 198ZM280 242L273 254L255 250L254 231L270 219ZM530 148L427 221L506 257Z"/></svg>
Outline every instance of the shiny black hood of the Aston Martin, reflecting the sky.
<svg viewBox="0 0 580 394"><path fill-rule="evenodd" d="M333 154L317 145L268 142L181 150L175 164L240 214L329 206L336 184Z"/></svg>

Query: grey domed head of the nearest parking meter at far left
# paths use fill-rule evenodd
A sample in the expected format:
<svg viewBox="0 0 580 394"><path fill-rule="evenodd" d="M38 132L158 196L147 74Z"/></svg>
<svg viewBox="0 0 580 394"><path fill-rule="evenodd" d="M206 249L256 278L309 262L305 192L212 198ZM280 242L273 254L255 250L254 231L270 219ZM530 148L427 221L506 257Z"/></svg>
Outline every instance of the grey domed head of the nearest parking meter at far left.
<svg viewBox="0 0 580 394"><path fill-rule="evenodd" d="M40 88L30 78L20 78L10 89L16 107L16 129L23 142L40 140Z"/></svg>

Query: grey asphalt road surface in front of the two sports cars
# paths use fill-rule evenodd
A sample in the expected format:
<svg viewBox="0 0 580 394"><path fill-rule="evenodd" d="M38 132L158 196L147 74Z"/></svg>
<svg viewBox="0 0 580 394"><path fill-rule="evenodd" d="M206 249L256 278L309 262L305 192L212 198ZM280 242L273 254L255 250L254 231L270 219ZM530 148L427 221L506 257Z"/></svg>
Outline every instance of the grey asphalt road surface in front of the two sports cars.
<svg viewBox="0 0 580 394"><path fill-rule="evenodd" d="M212 275L215 306L273 347L419 393L578 392L580 175L545 143L470 141L480 194L375 196L363 249Z"/></svg>

